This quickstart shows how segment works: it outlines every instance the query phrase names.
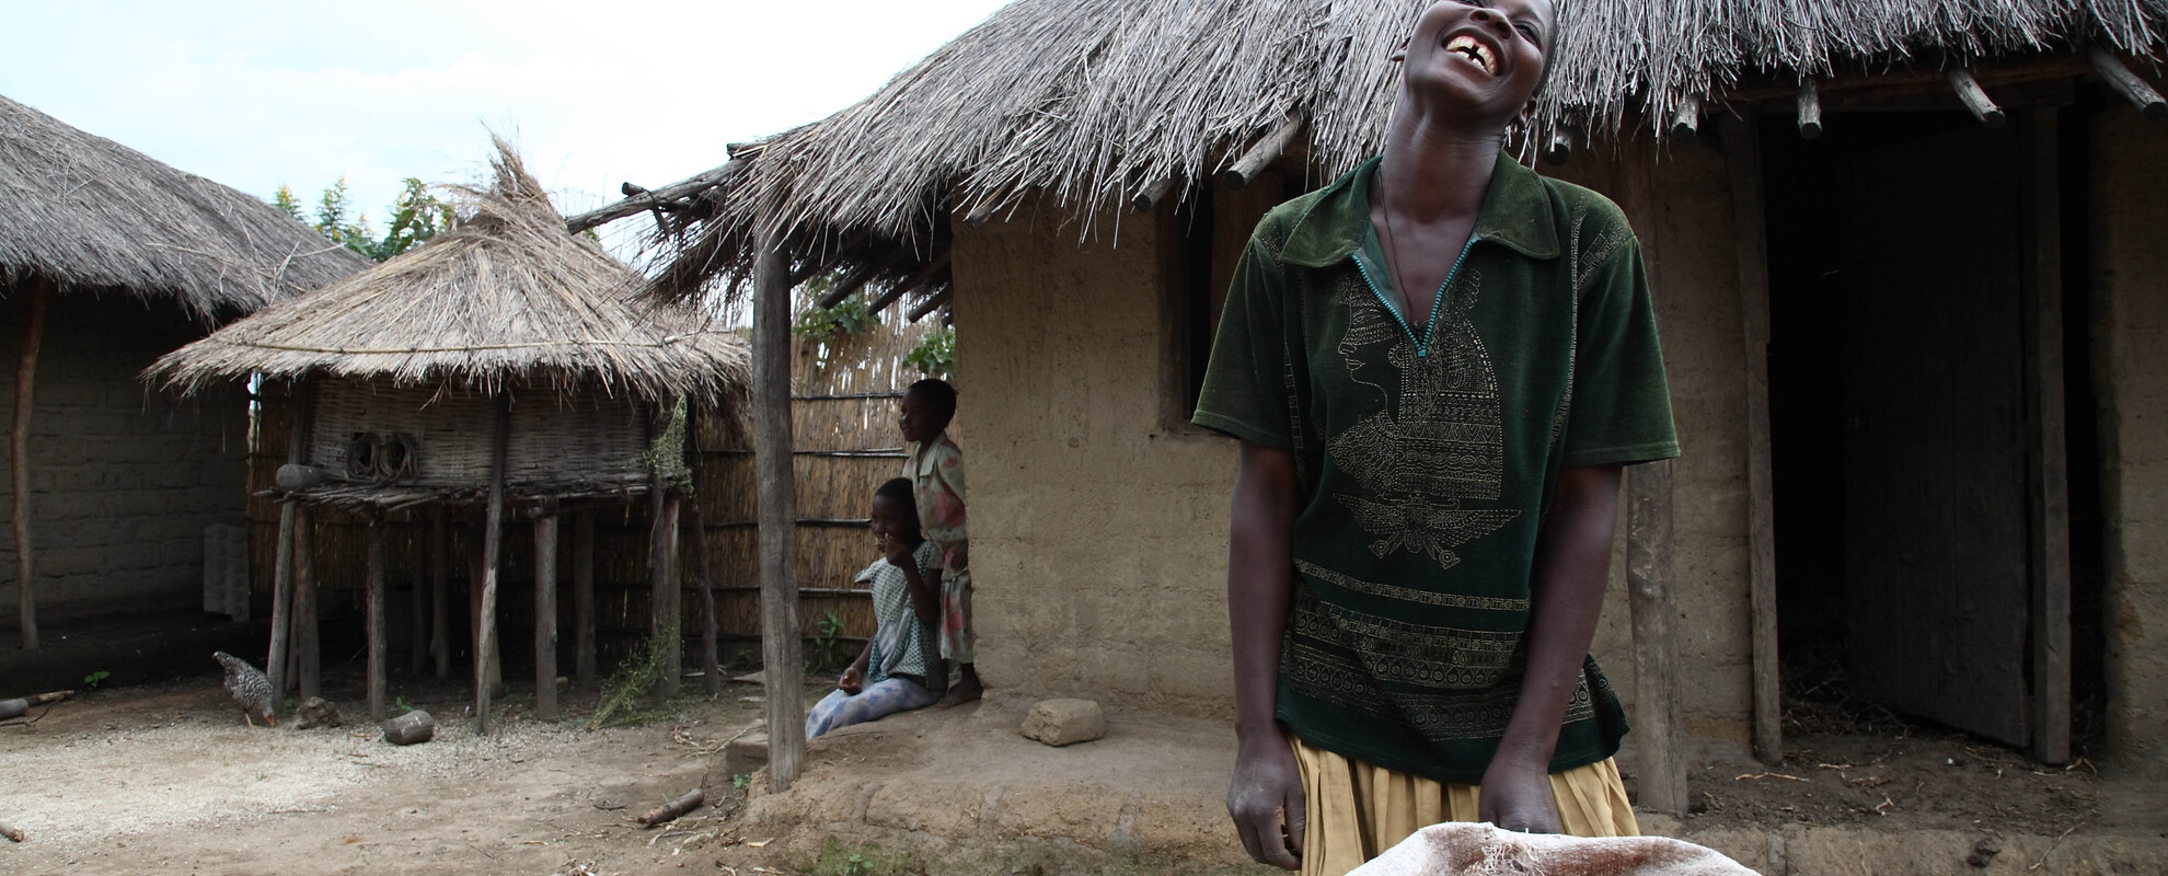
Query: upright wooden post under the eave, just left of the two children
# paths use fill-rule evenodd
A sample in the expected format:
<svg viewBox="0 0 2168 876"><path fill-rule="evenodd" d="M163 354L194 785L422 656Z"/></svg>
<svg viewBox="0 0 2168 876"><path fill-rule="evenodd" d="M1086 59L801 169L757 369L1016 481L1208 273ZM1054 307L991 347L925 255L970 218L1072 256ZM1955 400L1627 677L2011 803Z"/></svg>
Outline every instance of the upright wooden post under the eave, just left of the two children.
<svg viewBox="0 0 2168 876"><path fill-rule="evenodd" d="M783 284L778 234L763 234L752 260L752 471L759 486L761 666L767 672L767 778L774 791L798 781L806 705L798 642L796 527L791 473L791 288Z"/></svg>

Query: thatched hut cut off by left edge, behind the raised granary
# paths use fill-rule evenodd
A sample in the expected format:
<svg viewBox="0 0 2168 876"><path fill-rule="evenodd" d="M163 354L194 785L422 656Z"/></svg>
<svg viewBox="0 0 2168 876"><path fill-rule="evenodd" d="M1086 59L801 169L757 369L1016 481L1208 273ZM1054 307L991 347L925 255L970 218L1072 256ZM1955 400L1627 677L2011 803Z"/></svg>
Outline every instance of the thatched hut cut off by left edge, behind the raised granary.
<svg viewBox="0 0 2168 876"><path fill-rule="evenodd" d="M208 588L245 568L206 568L206 544L238 531L247 401L145 399L134 375L366 265L256 197L0 98L0 336L15 345L0 356L17 362L0 592L26 648L39 611L173 609L197 588L206 609L247 616L245 588Z"/></svg>

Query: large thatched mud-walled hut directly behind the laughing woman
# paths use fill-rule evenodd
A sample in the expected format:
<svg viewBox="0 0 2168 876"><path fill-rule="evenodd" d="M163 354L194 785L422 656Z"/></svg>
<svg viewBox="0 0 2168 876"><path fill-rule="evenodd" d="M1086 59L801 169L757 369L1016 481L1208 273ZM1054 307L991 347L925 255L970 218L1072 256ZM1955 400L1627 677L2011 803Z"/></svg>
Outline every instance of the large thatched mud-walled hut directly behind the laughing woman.
<svg viewBox="0 0 2168 876"><path fill-rule="evenodd" d="M989 690L1223 713L1205 345L1255 219L1379 150L1422 7L1019 0L572 221L657 215L666 295L947 312ZM1687 451L1630 473L1598 635L1639 798L1778 757L1786 677L2168 770L2168 2L1559 9L1513 147L1633 217Z"/></svg>

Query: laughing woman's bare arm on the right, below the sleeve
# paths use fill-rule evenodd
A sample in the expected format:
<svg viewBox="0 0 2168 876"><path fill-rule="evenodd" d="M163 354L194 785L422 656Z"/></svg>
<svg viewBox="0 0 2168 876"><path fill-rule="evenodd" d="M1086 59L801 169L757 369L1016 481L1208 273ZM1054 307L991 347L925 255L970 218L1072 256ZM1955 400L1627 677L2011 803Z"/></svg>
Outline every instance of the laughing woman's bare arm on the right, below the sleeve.
<svg viewBox="0 0 2168 876"><path fill-rule="evenodd" d="M1580 666L1604 607L1617 503L1619 466L1559 473L1535 546L1528 674L1513 720L1483 772L1481 817L1500 828L1561 833L1550 794L1550 755L1559 748L1559 724L1580 685Z"/></svg>

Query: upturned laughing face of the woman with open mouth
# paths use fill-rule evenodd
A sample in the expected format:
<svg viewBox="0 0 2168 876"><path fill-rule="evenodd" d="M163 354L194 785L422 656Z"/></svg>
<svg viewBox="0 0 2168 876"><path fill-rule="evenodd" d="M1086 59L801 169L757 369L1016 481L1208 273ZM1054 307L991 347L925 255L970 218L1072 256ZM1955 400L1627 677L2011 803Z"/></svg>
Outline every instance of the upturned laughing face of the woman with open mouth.
<svg viewBox="0 0 2168 876"><path fill-rule="evenodd" d="M1554 33L1548 0L1440 0L1416 20L1403 76L1414 95L1511 121L1544 80Z"/></svg>

